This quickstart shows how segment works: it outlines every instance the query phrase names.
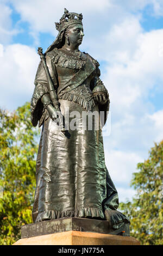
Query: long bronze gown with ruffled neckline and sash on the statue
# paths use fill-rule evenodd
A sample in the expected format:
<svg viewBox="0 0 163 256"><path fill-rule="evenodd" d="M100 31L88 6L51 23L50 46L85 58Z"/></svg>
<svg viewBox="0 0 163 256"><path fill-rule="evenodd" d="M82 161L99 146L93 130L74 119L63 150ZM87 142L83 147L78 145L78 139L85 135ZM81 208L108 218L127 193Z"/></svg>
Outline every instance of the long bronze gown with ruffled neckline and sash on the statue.
<svg viewBox="0 0 163 256"><path fill-rule="evenodd" d="M83 129L82 113L109 109L109 100L98 105L92 89L100 75L99 64L87 53L80 56L54 48L46 54L46 63L58 93L60 109L66 115L78 111L80 129L68 129L70 136L57 129L41 103L49 92L42 62L35 78L31 101L32 123L39 121L42 133L36 160L36 190L33 221L64 217L106 220L105 209L118 208L116 188L105 166L102 130ZM105 115L106 119L106 115ZM71 123L72 117L70 117Z"/></svg>

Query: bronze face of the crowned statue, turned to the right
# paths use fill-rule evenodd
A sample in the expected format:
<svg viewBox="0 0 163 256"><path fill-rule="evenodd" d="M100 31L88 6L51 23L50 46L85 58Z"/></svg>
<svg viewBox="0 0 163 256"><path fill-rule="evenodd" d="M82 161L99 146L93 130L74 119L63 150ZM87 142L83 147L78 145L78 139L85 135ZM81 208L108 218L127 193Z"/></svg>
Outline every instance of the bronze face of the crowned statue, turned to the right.
<svg viewBox="0 0 163 256"><path fill-rule="evenodd" d="M70 44L82 44L84 36L82 24L76 24L73 27L68 28L67 35L69 37Z"/></svg>

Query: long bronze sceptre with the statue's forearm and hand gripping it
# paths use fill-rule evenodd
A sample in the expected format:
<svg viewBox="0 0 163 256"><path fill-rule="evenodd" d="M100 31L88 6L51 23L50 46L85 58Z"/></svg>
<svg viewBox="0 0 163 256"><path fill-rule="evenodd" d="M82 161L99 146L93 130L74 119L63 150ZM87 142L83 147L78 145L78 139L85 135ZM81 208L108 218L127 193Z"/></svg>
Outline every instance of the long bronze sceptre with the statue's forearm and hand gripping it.
<svg viewBox="0 0 163 256"><path fill-rule="evenodd" d="M45 56L42 52L42 48L38 47L37 52L40 55L40 58L43 63L43 67L44 67L46 75L47 75L47 80L48 80L48 85L49 85L49 95L51 97L51 101L49 101L48 96L43 95L43 99L45 99L44 106L47 108L49 115L53 120L57 119L57 117L59 118L59 125L61 127L61 131L65 133L66 131L65 131L65 125L64 125L64 117L60 111L60 107L59 107L60 104L58 101L58 96L57 96L57 93L55 92L55 89L54 89L54 86L52 83L52 79L49 74L48 66L46 64Z"/></svg>

